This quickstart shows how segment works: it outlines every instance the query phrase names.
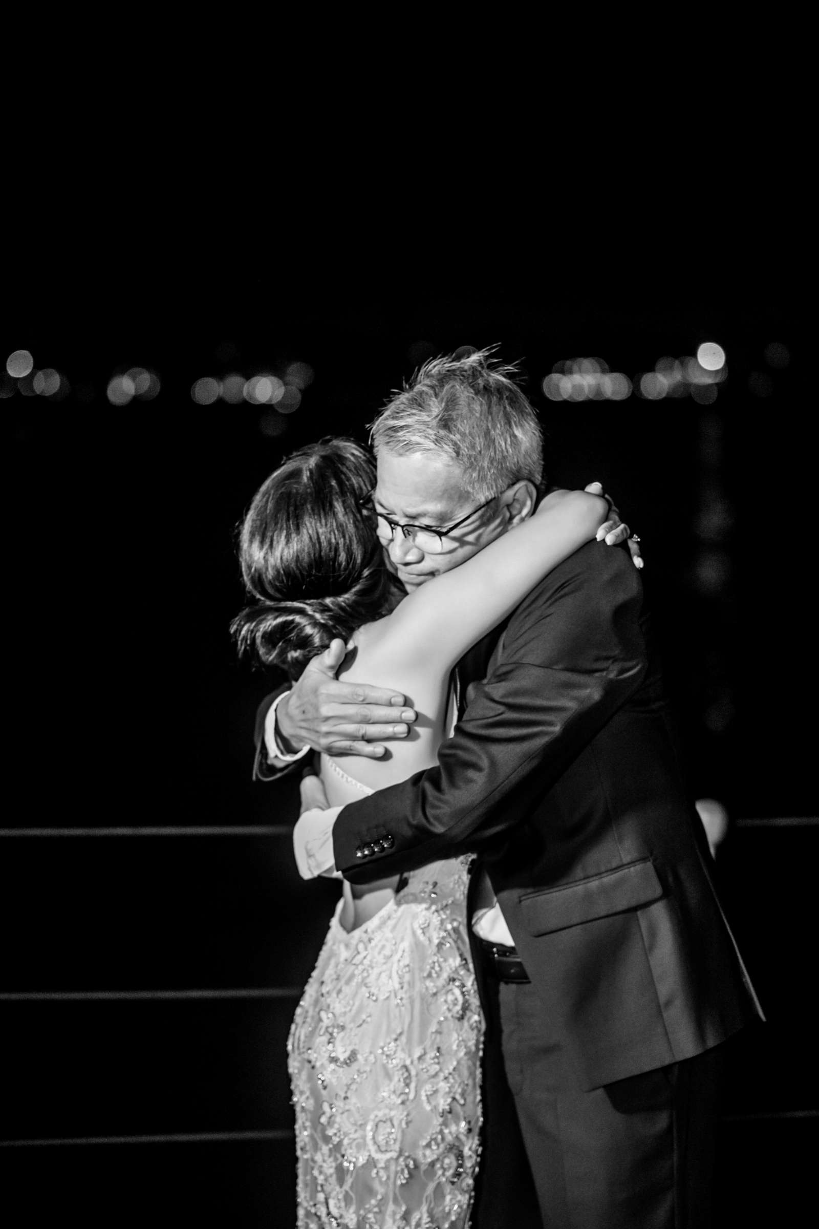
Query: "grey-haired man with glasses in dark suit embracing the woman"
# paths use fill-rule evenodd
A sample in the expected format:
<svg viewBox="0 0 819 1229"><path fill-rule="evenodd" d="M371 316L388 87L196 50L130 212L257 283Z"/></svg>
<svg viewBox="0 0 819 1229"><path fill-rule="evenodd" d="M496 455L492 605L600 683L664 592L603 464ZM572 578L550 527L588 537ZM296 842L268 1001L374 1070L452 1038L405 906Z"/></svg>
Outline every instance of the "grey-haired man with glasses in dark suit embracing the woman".
<svg viewBox="0 0 819 1229"><path fill-rule="evenodd" d="M404 584L442 558L414 532L417 457L443 450L452 506L467 506L470 440L505 423L512 440L534 422L508 382L480 356L441 363L379 417L376 509ZM530 466L530 435L526 452ZM462 547L503 531L478 528ZM627 552L577 551L458 672L468 703L438 767L332 819L335 866L352 882L480 854L469 901L489 1021L480 1227L513 1223L526 1202L518 1131L550 1229L705 1225L718 1047L760 1013L686 798ZM293 689L282 736L290 725L293 741L320 741L314 682Z"/></svg>

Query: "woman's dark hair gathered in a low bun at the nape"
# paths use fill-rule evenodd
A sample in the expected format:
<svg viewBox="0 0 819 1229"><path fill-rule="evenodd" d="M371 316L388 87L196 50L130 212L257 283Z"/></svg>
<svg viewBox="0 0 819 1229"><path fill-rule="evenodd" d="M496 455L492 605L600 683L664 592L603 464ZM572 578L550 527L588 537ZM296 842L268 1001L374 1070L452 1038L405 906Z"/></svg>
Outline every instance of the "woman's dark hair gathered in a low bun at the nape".
<svg viewBox="0 0 819 1229"><path fill-rule="evenodd" d="M334 637L386 612L392 580L361 506L375 484L372 456L345 439L300 449L262 484L239 535L255 601L231 624L239 653L297 678Z"/></svg>

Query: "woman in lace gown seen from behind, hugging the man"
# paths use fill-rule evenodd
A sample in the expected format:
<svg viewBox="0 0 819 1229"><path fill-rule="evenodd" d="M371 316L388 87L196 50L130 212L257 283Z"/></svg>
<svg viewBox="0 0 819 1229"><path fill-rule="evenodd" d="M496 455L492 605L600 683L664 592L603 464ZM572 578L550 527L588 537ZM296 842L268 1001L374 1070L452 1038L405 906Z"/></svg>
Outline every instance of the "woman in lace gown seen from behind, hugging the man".
<svg viewBox="0 0 819 1229"><path fill-rule="evenodd" d="M324 440L263 484L242 533L258 603L235 623L239 645L297 677L340 637L346 680L399 687L419 714L388 757L347 756L343 768L320 756L332 806L436 762L457 714L454 664L608 516L605 500L584 492L551 494L528 516L508 488L475 509L476 521L506 517L508 532L404 596L382 564L367 506L375 481L363 449ZM300 1229L468 1224L483 1036L468 862L343 885L289 1040Z"/></svg>

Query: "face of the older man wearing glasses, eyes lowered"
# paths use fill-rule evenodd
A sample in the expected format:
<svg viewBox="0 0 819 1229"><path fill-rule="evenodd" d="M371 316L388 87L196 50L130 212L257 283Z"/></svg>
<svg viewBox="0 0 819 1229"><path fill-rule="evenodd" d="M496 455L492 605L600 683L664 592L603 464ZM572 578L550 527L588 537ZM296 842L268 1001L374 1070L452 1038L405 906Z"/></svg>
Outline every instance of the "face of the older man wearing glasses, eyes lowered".
<svg viewBox="0 0 819 1229"><path fill-rule="evenodd" d="M397 456L382 450L373 503L377 511L399 525L446 528L480 501L464 488L460 468L454 462L426 452ZM476 554L503 533L507 525L502 501L494 499L454 530L451 538L444 538L440 554L425 554L400 530L393 531L389 542L379 536L384 542L387 567L411 591Z"/></svg>

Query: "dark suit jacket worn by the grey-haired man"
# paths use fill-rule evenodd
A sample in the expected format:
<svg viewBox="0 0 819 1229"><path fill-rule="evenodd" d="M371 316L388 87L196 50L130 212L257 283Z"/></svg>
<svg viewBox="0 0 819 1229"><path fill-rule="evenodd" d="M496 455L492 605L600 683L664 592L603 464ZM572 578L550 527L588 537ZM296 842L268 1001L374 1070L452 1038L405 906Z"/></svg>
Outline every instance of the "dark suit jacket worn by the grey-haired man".
<svg viewBox="0 0 819 1229"><path fill-rule="evenodd" d="M555 568L473 691L438 767L344 807L345 876L483 853L543 999L544 1040L581 1088L693 1057L761 1015L686 798L627 552L588 543Z"/></svg>

